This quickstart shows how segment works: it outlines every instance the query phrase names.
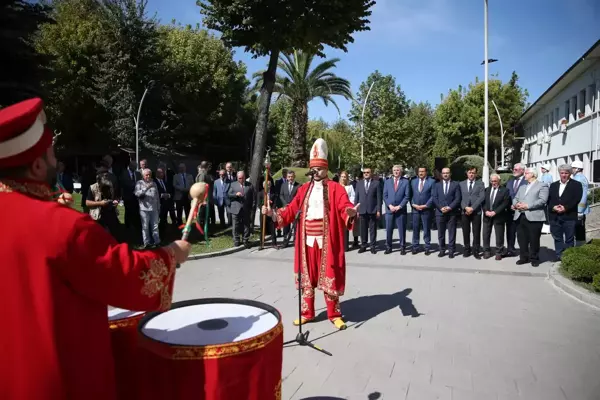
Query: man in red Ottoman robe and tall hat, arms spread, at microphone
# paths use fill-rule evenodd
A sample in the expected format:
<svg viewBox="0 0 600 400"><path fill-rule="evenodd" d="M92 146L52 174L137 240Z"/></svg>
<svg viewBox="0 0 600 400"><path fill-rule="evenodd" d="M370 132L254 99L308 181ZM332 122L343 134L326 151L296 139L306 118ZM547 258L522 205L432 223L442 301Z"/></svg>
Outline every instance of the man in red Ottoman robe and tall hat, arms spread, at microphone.
<svg viewBox="0 0 600 400"><path fill-rule="evenodd" d="M296 274L302 268L302 317L294 325L314 320L318 288L325 294L329 320L336 328L346 329L340 310L340 296L346 286L344 229L352 230L358 204L353 207L346 189L328 179L327 143L323 139L315 141L309 167L314 173L312 183L302 185L286 207L274 213L263 206L262 212L272 216L281 229L294 221L298 210L302 211L296 227L294 258Z"/></svg>

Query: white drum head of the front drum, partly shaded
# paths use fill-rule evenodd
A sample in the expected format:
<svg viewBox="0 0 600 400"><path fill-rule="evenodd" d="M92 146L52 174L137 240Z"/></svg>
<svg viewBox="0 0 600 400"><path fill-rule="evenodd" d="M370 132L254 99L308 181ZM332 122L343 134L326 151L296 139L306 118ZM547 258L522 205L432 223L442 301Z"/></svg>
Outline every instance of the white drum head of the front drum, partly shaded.
<svg viewBox="0 0 600 400"><path fill-rule="evenodd" d="M162 343L211 346L256 337L280 320L275 308L257 301L202 299L174 303L169 311L149 314L139 329Z"/></svg>

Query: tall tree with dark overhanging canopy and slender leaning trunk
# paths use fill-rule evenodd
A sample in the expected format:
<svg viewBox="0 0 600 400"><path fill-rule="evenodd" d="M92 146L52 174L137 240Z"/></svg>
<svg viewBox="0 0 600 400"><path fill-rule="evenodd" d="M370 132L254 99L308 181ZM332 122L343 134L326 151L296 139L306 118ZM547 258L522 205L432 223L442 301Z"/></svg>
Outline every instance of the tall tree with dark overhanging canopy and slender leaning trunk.
<svg viewBox="0 0 600 400"><path fill-rule="evenodd" d="M271 95L280 53L300 49L323 54L325 46L346 51L352 33L368 30L373 0L198 0L209 29L254 56L268 56L260 90L250 180L256 185L267 140Z"/></svg>

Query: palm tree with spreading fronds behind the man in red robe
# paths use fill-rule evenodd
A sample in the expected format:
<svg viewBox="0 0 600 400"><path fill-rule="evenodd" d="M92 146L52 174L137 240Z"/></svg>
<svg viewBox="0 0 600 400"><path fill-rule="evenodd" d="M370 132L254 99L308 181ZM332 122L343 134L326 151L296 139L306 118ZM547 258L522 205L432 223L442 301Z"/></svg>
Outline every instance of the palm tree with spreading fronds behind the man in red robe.
<svg viewBox="0 0 600 400"><path fill-rule="evenodd" d="M339 58L332 58L318 64L311 70L315 55L295 50L292 54L279 57L278 68L284 75L277 74L273 93L278 99L286 97L292 102L292 166L306 167L308 154L306 151L306 128L308 124L308 103L320 98L326 106L329 103L340 111L333 96L352 98L350 82L336 76L330 70L335 68ZM262 86L263 72L254 74L257 79L256 88Z"/></svg>

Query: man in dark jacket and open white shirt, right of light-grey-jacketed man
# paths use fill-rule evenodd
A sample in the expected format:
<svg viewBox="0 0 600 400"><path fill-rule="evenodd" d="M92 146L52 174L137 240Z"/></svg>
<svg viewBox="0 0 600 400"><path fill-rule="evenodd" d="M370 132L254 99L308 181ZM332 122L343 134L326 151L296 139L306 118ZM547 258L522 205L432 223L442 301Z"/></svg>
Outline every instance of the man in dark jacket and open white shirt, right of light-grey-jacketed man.
<svg viewBox="0 0 600 400"><path fill-rule="evenodd" d="M560 180L550 185L548 195L548 219L550 233L554 239L554 251L560 261L562 252L575 246L577 205L583 196L583 186L571 179L572 168L565 164L558 168Z"/></svg>

